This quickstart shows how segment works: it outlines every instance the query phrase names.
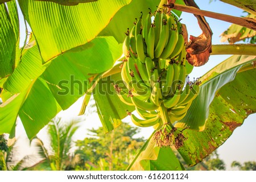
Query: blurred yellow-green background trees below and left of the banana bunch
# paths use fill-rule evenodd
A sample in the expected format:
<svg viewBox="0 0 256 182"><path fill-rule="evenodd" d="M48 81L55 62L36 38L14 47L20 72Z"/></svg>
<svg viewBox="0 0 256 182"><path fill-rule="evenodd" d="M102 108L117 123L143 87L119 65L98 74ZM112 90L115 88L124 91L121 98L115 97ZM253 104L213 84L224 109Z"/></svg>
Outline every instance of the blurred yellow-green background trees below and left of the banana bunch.
<svg viewBox="0 0 256 182"><path fill-rule="evenodd" d="M107 134L102 127L89 132L90 137L76 142L80 170L125 170L143 144L143 138L134 138L139 129L126 123Z"/></svg>

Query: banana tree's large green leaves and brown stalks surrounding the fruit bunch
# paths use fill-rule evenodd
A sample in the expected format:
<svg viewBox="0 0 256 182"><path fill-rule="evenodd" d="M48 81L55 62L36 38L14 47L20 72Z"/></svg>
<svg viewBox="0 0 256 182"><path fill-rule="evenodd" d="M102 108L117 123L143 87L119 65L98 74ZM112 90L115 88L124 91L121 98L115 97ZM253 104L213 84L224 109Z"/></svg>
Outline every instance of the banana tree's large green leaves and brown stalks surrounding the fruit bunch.
<svg viewBox="0 0 256 182"><path fill-rule="evenodd" d="M138 24L137 20L142 16L140 21L145 25L146 18L143 17L146 17L148 11L151 14L162 11L156 6L164 5L164 11L171 10L171 14L174 15L174 23L168 25L173 26L169 28L170 31L175 31L177 36L181 37L180 40L183 39L187 43L187 39L183 38L185 28L178 20L181 11L192 12L198 19L210 16L227 20L226 15L195 8L193 1L173 2L170 1L167 5L167 1L160 0L77 0L75 3L47 0L18 1L25 23L32 29L30 35L27 35L28 39L24 46L19 48L19 20L23 18L18 17L16 1L0 1L0 12L3 17L0 32L2 40L0 87L3 101L0 105L0 134L10 133L10 137L14 137L16 117L20 117L28 138L32 139L57 113L70 107L82 95L85 95L85 99L80 114L85 112L89 98L93 95L105 132L110 132L122 124L122 119L135 111L136 101L133 99L133 104L124 103L116 94L118 87L114 87L115 84L125 84L122 77L122 66L125 64L116 63L120 61L122 54L126 57L132 56L133 52L130 53L129 49L129 56L123 46L125 44L122 43L129 33L131 35L134 22ZM250 0L243 2L243 5L237 5L236 1L228 1L228 3L245 11L247 5L253 5L253 1ZM255 15L255 8L252 9L249 12ZM156 18L156 14L154 15ZM232 23L255 31L253 18L233 16L228 18ZM160 24L166 26L168 19L167 22L163 21ZM188 74L193 68L192 65L201 66L208 61L210 50L212 54L240 55L228 58L192 83L193 86L200 83L199 94L193 98L186 114L180 118L176 117L170 125L171 130L175 129L182 134L180 135L182 142L179 145L161 147L156 143L158 129L164 124L163 118L165 118L164 122L169 122L168 120L173 118L170 110L156 109L160 113L160 116L156 115L161 122L154 125L155 131L127 170L183 170L174 150L179 151L188 165L193 166L222 145L233 130L256 111L256 86L250 79L256 74L255 45L244 44L229 48L211 45L209 40L212 32L209 25L204 19L200 20L199 24L203 29L202 39L192 37L190 45L187 44L182 48L183 51L180 50L182 55L172 55L174 60L166 61L165 64L182 62ZM155 23L148 28L154 26L156 27ZM135 27L135 33L144 35L140 28ZM135 37L136 41L137 38ZM142 39L142 43L146 41L145 38ZM203 48L197 46L195 49L196 45L202 45L201 43L205 43L206 46ZM129 46L131 45L130 43ZM180 43L180 45L184 44ZM147 47L142 45L142 52L147 52L143 50ZM160 44L156 48L157 54L164 51ZM244 51L237 52L241 48ZM136 60L137 56L142 54L139 51L134 55ZM180 60L177 60L179 58ZM184 61L185 58L188 62ZM140 62L136 65L139 64ZM159 68L153 69L154 67L147 70L148 73L159 70ZM133 72L136 75L137 70ZM177 85L180 87L179 92L183 91L181 90L183 84L179 82ZM143 109L141 110L143 112ZM154 112L147 113L154 115Z"/></svg>

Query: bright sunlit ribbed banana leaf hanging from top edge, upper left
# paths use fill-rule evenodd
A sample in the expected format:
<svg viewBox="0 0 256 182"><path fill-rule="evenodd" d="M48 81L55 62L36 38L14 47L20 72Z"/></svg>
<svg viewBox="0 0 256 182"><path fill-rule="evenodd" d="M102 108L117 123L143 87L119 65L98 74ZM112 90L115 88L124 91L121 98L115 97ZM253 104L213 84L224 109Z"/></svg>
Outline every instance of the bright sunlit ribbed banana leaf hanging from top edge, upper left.
<svg viewBox="0 0 256 182"><path fill-rule="evenodd" d="M64 6L46 1L19 1L20 9L36 37L43 62L67 52L81 51L131 0L79 3Z"/></svg>

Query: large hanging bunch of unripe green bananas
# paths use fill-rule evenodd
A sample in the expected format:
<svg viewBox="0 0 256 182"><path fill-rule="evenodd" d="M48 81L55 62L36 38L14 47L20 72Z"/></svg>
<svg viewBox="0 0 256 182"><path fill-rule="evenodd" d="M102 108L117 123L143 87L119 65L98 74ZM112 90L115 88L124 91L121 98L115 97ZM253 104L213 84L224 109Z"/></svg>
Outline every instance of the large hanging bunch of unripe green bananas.
<svg viewBox="0 0 256 182"><path fill-rule="evenodd" d="M125 34L121 75L128 91L115 86L117 95L123 103L135 106L141 117L131 114L135 125L160 128L159 146L174 143L172 123L187 114L199 92L197 82L185 84L187 52L181 23L158 10L149 12L144 21L141 16Z"/></svg>

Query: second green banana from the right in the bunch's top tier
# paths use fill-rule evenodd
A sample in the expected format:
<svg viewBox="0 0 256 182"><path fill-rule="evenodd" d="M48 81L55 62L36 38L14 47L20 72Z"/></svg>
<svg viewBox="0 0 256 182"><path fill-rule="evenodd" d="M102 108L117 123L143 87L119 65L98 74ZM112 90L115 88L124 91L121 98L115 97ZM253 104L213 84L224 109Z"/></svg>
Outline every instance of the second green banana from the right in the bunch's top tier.
<svg viewBox="0 0 256 182"><path fill-rule="evenodd" d="M171 29L169 35L170 35L170 39L167 40L167 45L163 49L163 52L160 56L160 58L162 58L162 59L167 59L171 56L172 52L175 49L177 40L178 40L176 30Z"/></svg>

